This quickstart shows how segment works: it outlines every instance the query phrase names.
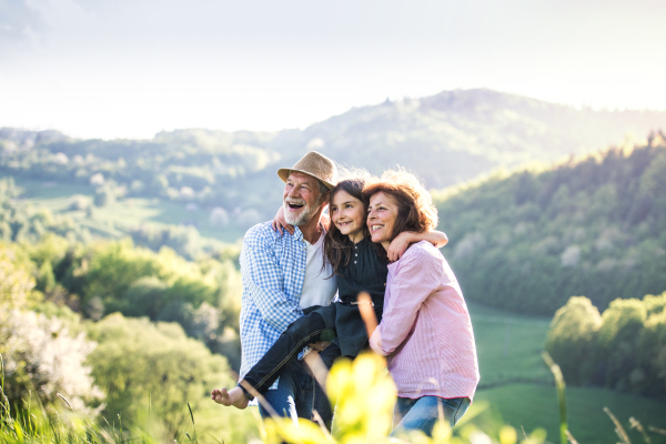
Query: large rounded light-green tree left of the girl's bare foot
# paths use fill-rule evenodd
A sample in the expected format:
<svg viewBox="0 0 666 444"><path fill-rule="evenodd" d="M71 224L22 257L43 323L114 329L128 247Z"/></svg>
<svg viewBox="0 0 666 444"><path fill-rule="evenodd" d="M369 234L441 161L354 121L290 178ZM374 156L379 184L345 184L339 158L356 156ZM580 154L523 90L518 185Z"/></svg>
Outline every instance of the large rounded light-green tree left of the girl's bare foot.
<svg viewBox="0 0 666 444"><path fill-rule="evenodd" d="M226 360L213 355L199 341L186 337L174 323L151 323L112 314L90 325L99 346L90 354L94 381L107 393L103 415L121 415L137 425L151 408L165 430L173 432L192 410L206 408L210 390L230 386Z"/></svg>

